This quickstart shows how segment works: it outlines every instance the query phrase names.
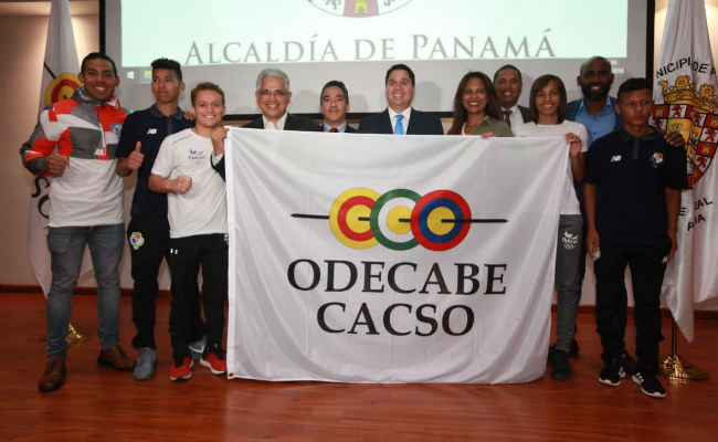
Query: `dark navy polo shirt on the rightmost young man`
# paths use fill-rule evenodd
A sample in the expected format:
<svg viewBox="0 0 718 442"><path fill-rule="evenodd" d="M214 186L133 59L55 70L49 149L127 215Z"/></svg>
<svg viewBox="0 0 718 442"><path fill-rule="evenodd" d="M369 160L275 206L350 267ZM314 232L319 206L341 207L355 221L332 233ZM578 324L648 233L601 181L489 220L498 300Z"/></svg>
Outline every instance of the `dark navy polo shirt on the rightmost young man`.
<svg viewBox="0 0 718 442"><path fill-rule="evenodd" d="M658 131L635 138L620 129L591 145L585 182L596 187L602 242L663 245L668 241L665 189L686 187L686 154Z"/></svg>

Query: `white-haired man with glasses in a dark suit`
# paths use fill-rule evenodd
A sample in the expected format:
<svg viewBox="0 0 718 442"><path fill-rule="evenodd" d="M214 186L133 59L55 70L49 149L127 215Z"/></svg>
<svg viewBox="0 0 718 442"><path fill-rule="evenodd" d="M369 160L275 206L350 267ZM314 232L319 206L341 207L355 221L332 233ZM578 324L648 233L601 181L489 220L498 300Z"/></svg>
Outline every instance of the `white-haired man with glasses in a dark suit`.
<svg viewBox="0 0 718 442"><path fill-rule="evenodd" d="M254 96L260 110L262 110L262 116L242 127L267 130L319 130L310 119L297 117L287 112L292 92L289 77L283 71L267 67L260 72L256 77Z"/></svg>

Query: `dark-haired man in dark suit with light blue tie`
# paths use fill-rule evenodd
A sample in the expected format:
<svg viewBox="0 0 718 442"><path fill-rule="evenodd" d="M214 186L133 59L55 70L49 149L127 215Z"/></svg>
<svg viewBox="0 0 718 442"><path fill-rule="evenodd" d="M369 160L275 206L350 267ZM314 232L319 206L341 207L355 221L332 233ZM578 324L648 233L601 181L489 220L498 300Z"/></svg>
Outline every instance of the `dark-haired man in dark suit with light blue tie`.
<svg viewBox="0 0 718 442"><path fill-rule="evenodd" d="M381 114L366 117L359 123L365 134L444 135L436 115L411 107L414 98L414 73L405 64L394 64L387 71L387 104Z"/></svg>

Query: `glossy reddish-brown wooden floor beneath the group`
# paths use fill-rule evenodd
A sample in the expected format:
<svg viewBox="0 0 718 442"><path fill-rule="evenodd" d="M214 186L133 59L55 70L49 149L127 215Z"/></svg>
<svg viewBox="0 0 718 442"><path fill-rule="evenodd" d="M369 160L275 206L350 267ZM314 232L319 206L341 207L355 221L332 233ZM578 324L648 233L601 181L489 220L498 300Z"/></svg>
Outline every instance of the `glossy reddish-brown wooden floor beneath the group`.
<svg viewBox="0 0 718 442"><path fill-rule="evenodd" d="M705 382L662 378L668 397L648 398L630 380L596 381L602 367L593 315L579 317L581 354L574 376L545 376L514 386L341 385L228 380L196 367L188 382L168 379L168 299L158 314L157 375L95 364L95 336L73 345L65 386L40 393L44 368L44 298L0 294L0 440L12 441L716 441L717 322L696 320L693 344L679 354L708 370ZM73 323L96 327L95 297L76 295ZM632 326L627 333L633 340ZM134 326L123 298L120 334L130 350ZM662 350L669 350L664 319ZM630 345L632 346L632 345ZM134 354L134 351L133 351Z"/></svg>

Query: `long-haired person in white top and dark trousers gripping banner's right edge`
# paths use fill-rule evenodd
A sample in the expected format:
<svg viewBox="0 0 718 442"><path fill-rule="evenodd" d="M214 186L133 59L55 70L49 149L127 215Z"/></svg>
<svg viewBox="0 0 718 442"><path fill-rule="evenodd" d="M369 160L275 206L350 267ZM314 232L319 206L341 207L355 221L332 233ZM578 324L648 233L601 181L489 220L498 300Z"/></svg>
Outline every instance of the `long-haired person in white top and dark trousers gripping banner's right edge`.
<svg viewBox="0 0 718 442"><path fill-rule="evenodd" d="M576 315L581 295L580 263L582 256L583 218L573 181L583 181L588 131L579 123L566 118L566 87L556 75L541 75L531 85L530 123L514 128L517 137L566 138L569 164L566 170L563 202L559 217L556 250L557 320L556 345L551 356L551 377L567 380L571 377L569 351L576 333Z"/></svg>

